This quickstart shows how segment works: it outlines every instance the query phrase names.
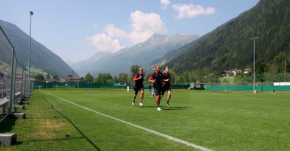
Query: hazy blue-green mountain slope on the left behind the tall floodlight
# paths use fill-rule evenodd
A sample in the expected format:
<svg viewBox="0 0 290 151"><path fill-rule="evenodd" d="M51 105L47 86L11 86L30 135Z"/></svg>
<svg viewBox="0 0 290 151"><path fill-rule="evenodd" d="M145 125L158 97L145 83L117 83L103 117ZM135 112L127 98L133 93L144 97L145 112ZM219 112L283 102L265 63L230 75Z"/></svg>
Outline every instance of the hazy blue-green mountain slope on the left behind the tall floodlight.
<svg viewBox="0 0 290 151"><path fill-rule="evenodd" d="M29 56L29 35L16 25L0 20L0 26L4 30L8 39L15 47L15 54L18 63L28 66ZM44 35L45 36L45 35ZM64 78L72 72L72 68L67 65L59 56L47 49L41 43L31 38L31 67L42 69L50 75L58 75ZM76 76L79 76L76 74Z"/></svg>

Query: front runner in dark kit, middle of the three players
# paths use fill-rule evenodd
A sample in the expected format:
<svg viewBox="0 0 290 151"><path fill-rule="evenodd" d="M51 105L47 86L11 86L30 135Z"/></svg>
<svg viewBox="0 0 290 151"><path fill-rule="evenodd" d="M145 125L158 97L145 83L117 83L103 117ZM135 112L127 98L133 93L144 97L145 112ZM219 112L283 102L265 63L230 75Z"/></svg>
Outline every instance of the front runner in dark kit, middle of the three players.
<svg viewBox="0 0 290 151"><path fill-rule="evenodd" d="M156 104L157 104L157 111L161 111L161 108L159 107L160 99L161 99L161 93L162 93L162 83L163 81L163 74L160 72L160 66L156 65L156 71L150 76L149 82L153 83L153 92L155 93L156 97Z"/></svg>

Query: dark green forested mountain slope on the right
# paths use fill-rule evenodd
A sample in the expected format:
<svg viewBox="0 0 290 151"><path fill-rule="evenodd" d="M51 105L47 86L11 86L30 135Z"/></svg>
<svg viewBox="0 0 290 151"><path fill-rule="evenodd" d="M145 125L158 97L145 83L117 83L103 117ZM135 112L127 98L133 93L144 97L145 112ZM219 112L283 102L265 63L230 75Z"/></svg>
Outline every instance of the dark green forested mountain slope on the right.
<svg viewBox="0 0 290 151"><path fill-rule="evenodd" d="M290 1L260 0L197 43L184 46L180 55L166 60L166 66L181 73L245 68L253 63L253 37L259 37L255 59L269 62L279 52L290 54L289 31Z"/></svg>

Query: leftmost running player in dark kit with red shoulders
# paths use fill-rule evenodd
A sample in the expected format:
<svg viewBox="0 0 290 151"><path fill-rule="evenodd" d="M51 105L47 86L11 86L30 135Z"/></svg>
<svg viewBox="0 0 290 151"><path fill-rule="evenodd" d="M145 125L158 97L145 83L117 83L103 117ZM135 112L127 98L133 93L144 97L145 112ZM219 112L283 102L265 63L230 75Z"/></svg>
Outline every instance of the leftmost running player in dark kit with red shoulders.
<svg viewBox="0 0 290 151"><path fill-rule="evenodd" d="M135 106L135 98L138 94L138 92L141 92L140 96L140 106L143 106L142 100L143 100L143 95L144 95L144 87L143 87L143 81L144 81L144 75L143 75L143 68L139 68L138 74L135 75L134 77L134 95L133 95L133 100L132 100L132 105Z"/></svg>

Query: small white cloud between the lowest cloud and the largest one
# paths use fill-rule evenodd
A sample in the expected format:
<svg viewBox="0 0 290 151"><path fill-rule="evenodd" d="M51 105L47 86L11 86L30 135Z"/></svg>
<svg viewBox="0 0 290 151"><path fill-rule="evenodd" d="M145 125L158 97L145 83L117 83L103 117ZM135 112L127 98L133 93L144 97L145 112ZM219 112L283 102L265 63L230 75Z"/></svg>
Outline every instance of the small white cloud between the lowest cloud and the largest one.
<svg viewBox="0 0 290 151"><path fill-rule="evenodd" d="M103 32L106 32L109 37L114 38L128 38L129 36L125 31L115 27L114 24L107 24Z"/></svg>

